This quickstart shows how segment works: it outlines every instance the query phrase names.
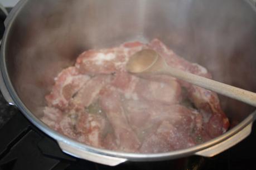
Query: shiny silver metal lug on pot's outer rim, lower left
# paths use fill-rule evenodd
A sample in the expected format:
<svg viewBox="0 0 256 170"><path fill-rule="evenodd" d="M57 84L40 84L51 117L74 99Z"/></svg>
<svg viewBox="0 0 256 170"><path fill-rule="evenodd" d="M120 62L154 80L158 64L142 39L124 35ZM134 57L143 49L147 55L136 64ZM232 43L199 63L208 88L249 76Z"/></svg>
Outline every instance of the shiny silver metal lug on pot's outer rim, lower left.
<svg viewBox="0 0 256 170"><path fill-rule="evenodd" d="M78 158L86 159L88 161L93 161L93 162L105 164L108 166L117 166L118 164L127 161L127 159L125 158L105 156L102 154L86 151L85 149L78 149L78 148L72 147L70 146L70 144L67 144L61 141L57 141L57 142L59 143L59 146L63 152Z"/></svg>

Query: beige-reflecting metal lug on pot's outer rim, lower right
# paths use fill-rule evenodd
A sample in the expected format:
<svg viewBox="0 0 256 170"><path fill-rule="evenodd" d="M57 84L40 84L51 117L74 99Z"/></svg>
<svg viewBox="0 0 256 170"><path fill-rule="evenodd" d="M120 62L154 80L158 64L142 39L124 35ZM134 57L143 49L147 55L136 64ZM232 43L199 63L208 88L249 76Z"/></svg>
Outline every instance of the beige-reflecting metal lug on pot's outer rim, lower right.
<svg viewBox="0 0 256 170"><path fill-rule="evenodd" d="M247 119L251 119L252 123L245 126L241 131L236 133L234 136L229 137L225 141L215 144L212 147L209 147L202 151L196 152L195 155L204 156L204 157L213 157L213 156L225 151L226 149L233 147L235 144L239 143L240 141L243 141L243 139L248 137L249 134L252 132L253 120L256 118L255 113L256 112L254 112L247 118Z"/></svg>

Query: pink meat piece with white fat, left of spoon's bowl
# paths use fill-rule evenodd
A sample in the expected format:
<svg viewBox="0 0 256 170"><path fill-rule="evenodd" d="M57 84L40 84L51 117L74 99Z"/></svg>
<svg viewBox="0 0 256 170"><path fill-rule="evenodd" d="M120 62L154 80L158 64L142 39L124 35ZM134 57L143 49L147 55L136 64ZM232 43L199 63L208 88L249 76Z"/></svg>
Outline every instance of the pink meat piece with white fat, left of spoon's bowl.
<svg viewBox="0 0 256 170"><path fill-rule="evenodd" d="M129 56L146 46L139 42L124 43L109 49L91 49L80 54L75 67L83 74L112 74L125 71Z"/></svg>

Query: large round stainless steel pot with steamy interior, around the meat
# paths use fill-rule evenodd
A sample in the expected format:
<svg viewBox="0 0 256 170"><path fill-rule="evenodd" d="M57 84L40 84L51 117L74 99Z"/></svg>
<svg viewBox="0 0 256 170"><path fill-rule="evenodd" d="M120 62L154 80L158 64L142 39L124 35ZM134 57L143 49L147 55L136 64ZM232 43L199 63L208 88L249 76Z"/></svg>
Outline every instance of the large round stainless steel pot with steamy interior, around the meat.
<svg viewBox="0 0 256 170"><path fill-rule="evenodd" d="M248 3L249 2L249 3ZM214 156L251 132L256 112L221 97L228 132L195 147L158 154L121 153L73 141L40 121L44 96L62 68L85 49L160 38L180 56L200 63L218 81L256 91L256 14L240 0L80 0L17 4L6 20L1 47L1 91L9 104L75 157L115 166L190 155Z"/></svg>

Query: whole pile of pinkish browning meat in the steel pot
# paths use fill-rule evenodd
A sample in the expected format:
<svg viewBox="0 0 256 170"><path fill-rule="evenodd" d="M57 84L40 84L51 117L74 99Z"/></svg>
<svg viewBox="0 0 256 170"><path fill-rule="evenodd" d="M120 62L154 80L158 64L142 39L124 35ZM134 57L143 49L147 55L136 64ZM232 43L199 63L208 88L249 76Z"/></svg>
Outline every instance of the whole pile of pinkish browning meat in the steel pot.
<svg viewBox="0 0 256 170"><path fill-rule="evenodd" d="M216 93L169 76L138 78L125 70L132 54L153 49L171 66L211 78L158 39L85 51L55 78L42 121L89 146L160 153L195 146L226 132Z"/></svg>

